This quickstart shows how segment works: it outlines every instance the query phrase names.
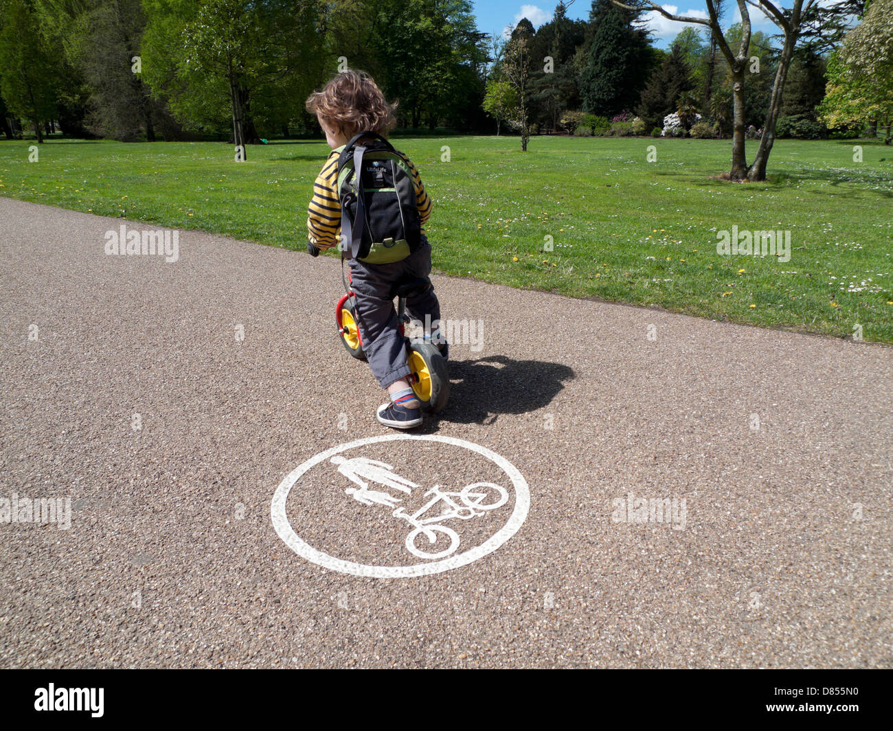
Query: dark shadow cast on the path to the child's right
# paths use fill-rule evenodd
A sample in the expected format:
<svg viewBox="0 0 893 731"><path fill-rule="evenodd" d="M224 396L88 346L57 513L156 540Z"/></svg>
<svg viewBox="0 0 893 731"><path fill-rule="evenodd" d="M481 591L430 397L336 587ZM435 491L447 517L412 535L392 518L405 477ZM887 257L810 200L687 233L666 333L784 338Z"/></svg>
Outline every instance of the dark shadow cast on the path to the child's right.
<svg viewBox="0 0 893 731"><path fill-rule="evenodd" d="M449 361L450 396L442 419L459 424L492 424L499 414L520 414L546 406L574 378L561 363L513 361L489 355Z"/></svg>

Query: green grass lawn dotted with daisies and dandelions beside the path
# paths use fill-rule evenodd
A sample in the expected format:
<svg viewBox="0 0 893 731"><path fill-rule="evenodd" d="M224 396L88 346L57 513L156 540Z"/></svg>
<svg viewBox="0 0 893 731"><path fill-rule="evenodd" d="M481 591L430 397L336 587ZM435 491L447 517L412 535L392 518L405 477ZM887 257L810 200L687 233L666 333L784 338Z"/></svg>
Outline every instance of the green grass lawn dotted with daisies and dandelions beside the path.
<svg viewBox="0 0 893 731"><path fill-rule="evenodd" d="M727 140L534 137L526 154L517 137L394 142L434 199L436 270L834 336L861 325L864 340L893 342L890 147L781 140L771 180L740 185L716 179ZM31 144L0 142L0 195L300 250L329 151L252 146L238 163L221 143L54 140L29 162ZM789 230L790 261L718 254L733 225Z"/></svg>

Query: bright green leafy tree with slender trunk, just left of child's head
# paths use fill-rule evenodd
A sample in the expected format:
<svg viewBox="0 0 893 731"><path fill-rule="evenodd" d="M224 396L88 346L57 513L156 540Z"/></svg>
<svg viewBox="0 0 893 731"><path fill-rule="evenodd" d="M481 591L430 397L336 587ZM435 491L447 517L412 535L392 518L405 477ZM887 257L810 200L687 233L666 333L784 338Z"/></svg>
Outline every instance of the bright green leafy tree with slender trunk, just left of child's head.
<svg viewBox="0 0 893 731"><path fill-rule="evenodd" d="M319 5L313 0L145 0L143 73L154 96L191 129L233 144L281 129L321 77Z"/></svg>

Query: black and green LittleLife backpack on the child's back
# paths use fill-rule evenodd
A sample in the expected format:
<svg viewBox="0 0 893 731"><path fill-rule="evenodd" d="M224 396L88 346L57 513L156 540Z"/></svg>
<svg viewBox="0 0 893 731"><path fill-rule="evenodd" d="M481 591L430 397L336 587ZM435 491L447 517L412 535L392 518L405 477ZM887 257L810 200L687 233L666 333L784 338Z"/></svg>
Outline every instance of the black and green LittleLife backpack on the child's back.
<svg viewBox="0 0 893 731"><path fill-rule="evenodd" d="M376 140L357 145L361 137ZM360 132L338 155L338 199L342 256L388 264L405 259L421 245L413 174L377 132Z"/></svg>

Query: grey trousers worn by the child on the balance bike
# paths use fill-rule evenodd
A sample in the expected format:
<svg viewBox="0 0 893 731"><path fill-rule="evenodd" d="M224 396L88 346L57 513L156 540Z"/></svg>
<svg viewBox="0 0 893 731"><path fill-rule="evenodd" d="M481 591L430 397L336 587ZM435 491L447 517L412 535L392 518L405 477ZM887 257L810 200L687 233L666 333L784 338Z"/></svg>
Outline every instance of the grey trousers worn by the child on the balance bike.
<svg viewBox="0 0 893 731"><path fill-rule="evenodd" d="M431 273L431 247L422 237L421 247L402 262L366 264L350 262L351 287L356 297L357 323L363 339L363 351L372 375L382 388L410 374L406 363L406 345L400 335L394 309L394 290L407 279L424 278ZM434 287L406 298L406 312L413 320L440 320L440 304Z"/></svg>

